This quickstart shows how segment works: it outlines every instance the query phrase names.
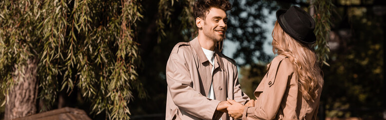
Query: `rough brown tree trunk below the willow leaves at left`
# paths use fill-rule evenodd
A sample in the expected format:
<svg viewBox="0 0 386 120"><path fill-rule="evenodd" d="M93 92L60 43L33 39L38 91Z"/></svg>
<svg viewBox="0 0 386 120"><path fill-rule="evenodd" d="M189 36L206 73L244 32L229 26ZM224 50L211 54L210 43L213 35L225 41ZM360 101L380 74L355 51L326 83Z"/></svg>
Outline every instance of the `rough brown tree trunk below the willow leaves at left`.
<svg viewBox="0 0 386 120"><path fill-rule="evenodd" d="M4 119L13 119L36 113L37 97L37 69L36 59L27 60L26 65L15 65L21 67L22 72L15 70L13 79L18 81L13 85L8 93L7 103L5 105Z"/></svg>

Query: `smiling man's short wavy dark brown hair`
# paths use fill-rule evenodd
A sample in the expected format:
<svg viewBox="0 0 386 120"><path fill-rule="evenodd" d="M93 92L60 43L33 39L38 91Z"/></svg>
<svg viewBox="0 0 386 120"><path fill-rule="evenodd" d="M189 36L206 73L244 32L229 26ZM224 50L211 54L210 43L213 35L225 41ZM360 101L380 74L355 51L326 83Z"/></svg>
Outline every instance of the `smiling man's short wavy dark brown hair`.
<svg viewBox="0 0 386 120"><path fill-rule="evenodd" d="M205 19L206 12L209 12L211 7L220 8L224 11L232 9L232 5L228 0L196 0L193 6L194 20L197 17Z"/></svg>

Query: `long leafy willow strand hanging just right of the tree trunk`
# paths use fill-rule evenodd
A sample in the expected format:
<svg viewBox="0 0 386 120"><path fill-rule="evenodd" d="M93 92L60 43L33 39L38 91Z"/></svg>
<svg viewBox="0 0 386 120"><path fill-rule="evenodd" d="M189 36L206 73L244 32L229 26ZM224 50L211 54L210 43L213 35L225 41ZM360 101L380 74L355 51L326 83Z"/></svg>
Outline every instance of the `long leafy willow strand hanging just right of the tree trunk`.
<svg viewBox="0 0 386 120"><path fill-rule="evenodd" d="M42 33L41 43L36 45L39 54L36 54L40 60L38 64L38 74L41 92L39 98L46 101L43 111L48 110L55 101L57 91L59 90L57 75L60 74L60 62L63 61L63 46L65 41L65 32L68 26L66 15L68 6L65 0L45 0L41 9L36 9L39 14L36 18L41 22L38 24L38 32ZM38 8L38 7L37 7Z"/></svg>

